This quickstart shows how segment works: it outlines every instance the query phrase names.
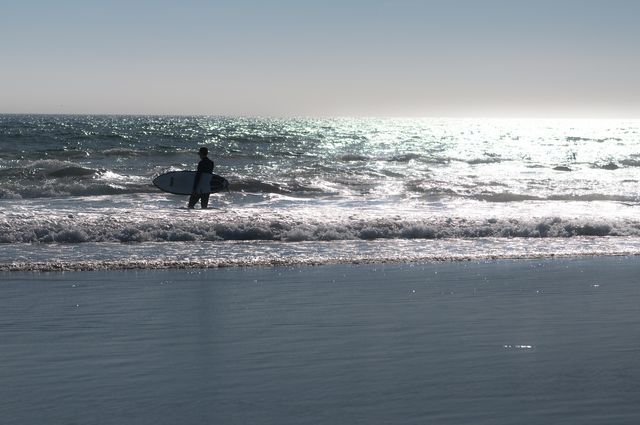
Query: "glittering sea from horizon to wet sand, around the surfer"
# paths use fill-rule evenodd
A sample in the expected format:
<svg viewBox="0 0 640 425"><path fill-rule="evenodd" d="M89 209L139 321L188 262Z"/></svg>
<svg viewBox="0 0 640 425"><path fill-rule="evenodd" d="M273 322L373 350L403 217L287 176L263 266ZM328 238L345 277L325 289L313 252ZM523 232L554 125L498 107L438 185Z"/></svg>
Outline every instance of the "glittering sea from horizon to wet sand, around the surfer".
<svg viewBox="0 0 640 425"><path fill-rule="evenodd" d="M0 115L0 268L638 254L639 166L633 120Z"/></svg>

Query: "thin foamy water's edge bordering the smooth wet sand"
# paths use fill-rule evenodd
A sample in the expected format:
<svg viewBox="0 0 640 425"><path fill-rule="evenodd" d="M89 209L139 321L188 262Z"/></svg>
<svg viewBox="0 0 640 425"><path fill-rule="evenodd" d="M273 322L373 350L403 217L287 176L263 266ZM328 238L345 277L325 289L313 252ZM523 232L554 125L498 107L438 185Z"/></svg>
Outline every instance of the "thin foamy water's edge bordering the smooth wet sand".
<svg viewBox="0 0 640 425"><path fill-rule="evenodd" d="M441 264L482 261L530 261L530 260L563 260L585 258L619 258L640 257L636 251L615 253L560 253L560 254L516 254L513 256L479 254L479 255L446 255L446 256L413 256L410 258L319 258L289 260L282 257L229 259L229 260L104 260L104 261L60 261L60 262L12 262L0 264L0 273L50 273L50 272L90 272L90 271L152 271L152 270L206 270L206 269L245 269L271 267L319 267L336 265L403 265L403 264Z"/></svg>

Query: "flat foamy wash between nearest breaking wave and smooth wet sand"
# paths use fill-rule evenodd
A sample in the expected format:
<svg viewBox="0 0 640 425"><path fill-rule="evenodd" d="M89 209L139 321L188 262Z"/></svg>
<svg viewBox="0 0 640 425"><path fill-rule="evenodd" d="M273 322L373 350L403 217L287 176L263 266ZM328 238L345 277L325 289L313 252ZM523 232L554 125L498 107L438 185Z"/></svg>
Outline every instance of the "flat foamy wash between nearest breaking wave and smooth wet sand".
<svg viewBox="0 0 640 425"><path fill-rule="evenodd" d="M78 258L79 252L82 257ZM0 271L219 268L637 256L640 238L13 244Z"/></svg>

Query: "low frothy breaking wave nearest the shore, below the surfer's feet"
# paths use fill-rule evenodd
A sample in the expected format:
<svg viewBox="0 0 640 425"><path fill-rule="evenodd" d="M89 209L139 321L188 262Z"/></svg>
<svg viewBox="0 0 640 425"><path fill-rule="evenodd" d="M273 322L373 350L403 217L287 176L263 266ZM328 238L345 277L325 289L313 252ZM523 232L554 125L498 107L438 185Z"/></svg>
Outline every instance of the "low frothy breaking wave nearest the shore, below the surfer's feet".
<svg viewBox="0 0 640 425"><path fill-rule="evenodd" d="M564 218L347 219L330 223L262 216L210 220L207 213L188 212L163 219L69 215L43 218L4 218L0 243L185 242L185 241L349 241L475 238L572 238L581 236L640 236L640 221L598 221Z"/></svg>

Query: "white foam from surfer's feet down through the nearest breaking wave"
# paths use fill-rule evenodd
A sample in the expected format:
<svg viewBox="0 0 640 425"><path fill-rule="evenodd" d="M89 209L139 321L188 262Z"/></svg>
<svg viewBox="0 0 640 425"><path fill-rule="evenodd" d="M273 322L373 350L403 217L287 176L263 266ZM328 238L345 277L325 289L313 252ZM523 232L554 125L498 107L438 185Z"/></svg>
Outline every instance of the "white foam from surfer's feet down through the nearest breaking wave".
<svg viewBox="0 0 640 425"><path fill-rule="evenodd" d="M126 199L126 198L125 198ZM146 199L146 200L145 200ZM223 210L24 206L0 215L2 243L171 242L171 241L331 241L376 239L572 238L640 236L636 207L610 203L545 202L499 205L458 202L443 208L414 204L353 207L312 203L293 207L288 198L266 206L234 205ZM219 197L215 199L224 199ZM216 200L213 203L216 203ZM103 202L108 201L103 198ZM60 205L64 201L60 200ZM287 204L288 203L288 204ZM287 205L289 205L287 207ZM580 214L574 209L580 208ZM607 210L609 208L609 210ZM535 211L536 216L531 212Z"/></svg>

